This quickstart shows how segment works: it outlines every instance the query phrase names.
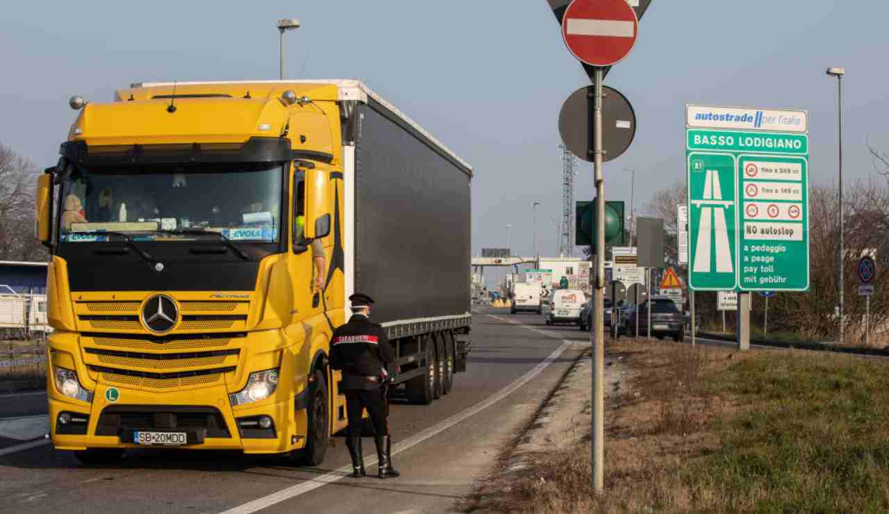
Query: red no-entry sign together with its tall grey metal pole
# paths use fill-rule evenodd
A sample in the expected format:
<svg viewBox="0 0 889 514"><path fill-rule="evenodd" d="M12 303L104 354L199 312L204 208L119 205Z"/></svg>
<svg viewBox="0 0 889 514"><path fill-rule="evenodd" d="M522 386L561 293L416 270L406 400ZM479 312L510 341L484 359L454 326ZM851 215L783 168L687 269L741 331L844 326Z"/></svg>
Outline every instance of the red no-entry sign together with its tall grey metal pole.
<svg viewBox="0 0 889 514"><path fill-rule="evenodd" d="M601 492L605 486L605 180L602 163L606 149L603 146L602 80L605 67L625 59L633 50L638 26L637 14L627 0L573 0L562 16L562 38L565 46L582 64L594 70L592 91L587 89L586 126L589 138L586 152L578 157L584 160L592 158L593 183L596 189L596 292L591 343L592 486L597 492ZM582 126L583 124L574 128L581 129ZM635 127L635 123L633 126Z"/></svg>

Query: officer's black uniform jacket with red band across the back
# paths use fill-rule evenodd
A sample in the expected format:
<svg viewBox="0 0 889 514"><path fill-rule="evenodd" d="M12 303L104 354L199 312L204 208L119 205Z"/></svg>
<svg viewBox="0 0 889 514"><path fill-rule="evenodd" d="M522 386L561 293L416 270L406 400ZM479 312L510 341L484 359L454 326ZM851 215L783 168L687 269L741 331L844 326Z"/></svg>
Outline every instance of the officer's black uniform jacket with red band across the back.
<svg viewBox="0 0 889 514"><path fill-rule="evenodd" d="M381 378L385 365L394 360L395 352L389 346L386 331L367 317L356 314L333 331L330 365L344 375Z"/></svg>

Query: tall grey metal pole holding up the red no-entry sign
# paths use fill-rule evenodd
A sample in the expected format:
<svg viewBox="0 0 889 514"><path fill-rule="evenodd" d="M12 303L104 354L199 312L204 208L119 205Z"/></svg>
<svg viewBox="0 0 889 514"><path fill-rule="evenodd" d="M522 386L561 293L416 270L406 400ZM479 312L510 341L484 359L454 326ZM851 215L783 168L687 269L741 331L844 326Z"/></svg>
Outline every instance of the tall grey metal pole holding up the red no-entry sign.
<svg viewBox="0 0 889 514"><path fill-rule="evenodd" d="M589 99L589 133L593 135L593 184L596 186L596 296L593 313L593 413L592 413L592 460L593 490L601 493L605 488L605 180L602 175L602 68L597 67L593 77L593 98ZM592 101L589 101L592 100Z"/></svg>

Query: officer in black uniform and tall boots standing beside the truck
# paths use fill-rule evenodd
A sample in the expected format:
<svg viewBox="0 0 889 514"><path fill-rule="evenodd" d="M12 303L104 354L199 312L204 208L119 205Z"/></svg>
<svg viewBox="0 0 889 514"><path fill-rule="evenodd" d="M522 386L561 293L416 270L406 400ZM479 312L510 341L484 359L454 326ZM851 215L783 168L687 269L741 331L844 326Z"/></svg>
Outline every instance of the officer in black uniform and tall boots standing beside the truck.
<svg viewBox="0 0 889 514"><path fill-rule="evenodd" d="M348 434L346 446L352 457L352 477L361 478L364 472L364 454L361 449L361 414L364 409L371 415L373 441L380 461L380 478L397 477L392 467L391 441L388 435L388 373L386 365L395 360L395 352L389 346L386 331L370 320L370 296L355 293L348 297L355 314L345 325L333 331L331 338L330 365L342 370L340 390L346 395Z"/></svg>

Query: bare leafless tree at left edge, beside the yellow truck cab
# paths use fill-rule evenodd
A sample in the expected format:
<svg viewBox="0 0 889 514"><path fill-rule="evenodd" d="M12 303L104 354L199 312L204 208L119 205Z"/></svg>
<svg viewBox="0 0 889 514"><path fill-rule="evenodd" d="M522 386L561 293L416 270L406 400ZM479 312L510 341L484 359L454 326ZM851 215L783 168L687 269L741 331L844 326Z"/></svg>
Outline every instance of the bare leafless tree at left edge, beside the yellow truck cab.
<svg viewBox="0 0 889 514"><path fill-rule="evenodd" d="M0 143L0 259L44 261L34 237L36 166Z"/></svg>

